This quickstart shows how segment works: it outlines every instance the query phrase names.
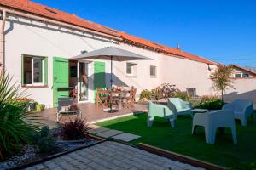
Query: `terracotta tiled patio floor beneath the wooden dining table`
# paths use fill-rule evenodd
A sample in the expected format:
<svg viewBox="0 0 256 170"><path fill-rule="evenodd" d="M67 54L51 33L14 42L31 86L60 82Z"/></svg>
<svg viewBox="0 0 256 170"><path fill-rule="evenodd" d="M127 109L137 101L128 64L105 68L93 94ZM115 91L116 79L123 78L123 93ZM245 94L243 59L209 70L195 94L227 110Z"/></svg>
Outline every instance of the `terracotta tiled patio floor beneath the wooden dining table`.
<svg viewBox="0 0 256 170"><path fill-rule="evenodd" d="M135 104L134 108L123 108L120 111L114 113L102 111L102 106L96 107L96 105L93 103L79 104L79 108L82 111L83 118L86 118L87 122L99 122L101 120L106 120L116 116L125 116L128 114L145 111L147 106ZM56 108L46 109L42 112L36 113L36 115L38 116L39 122L48 125L50 128L59 126L56 122ZM67 119L67 116L63 116L61 121L66 121Z"/></svg>

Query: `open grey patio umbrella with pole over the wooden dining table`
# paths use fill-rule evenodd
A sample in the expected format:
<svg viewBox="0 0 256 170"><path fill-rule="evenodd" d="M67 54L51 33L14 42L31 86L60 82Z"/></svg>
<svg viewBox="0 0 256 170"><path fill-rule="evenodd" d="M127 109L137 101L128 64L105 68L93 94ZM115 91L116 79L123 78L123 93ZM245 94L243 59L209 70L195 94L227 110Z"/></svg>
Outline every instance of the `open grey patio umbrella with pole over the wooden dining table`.
<svg viewBox="0 0 256 170"><path fill-rule="evenodd" d="M97 49L95 51L91 51L89 53L80 54L78 56L75 56L71 59L74 60L81 60L81 59L102 59L102 60L111 60L111 77L110 77L110 97L112 97L112 85L113 85L113 79L112 79L112 73L113 73L113 61L128 61L128 60L143 60L143 59L149 59L148 57L145 57L140 54L135 54L130 51L115 48L115 47L107 47L107 48L101 48ZM112 103L110 102L110 112L112 112Z"/></svg>

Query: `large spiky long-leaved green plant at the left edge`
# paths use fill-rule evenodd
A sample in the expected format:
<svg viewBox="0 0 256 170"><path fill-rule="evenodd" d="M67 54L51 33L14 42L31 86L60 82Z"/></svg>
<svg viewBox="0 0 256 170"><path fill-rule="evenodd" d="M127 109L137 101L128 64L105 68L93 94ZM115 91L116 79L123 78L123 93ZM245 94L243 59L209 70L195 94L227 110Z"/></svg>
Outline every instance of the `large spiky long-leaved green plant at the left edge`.
<svg viewBox="0 0 256 170"><path fill-rule="evenodd" d="M27 102L17 99L25 97L20 84L12 83L12 77L5 71L0 74L0 159L10 156L20 144L30 143L29 133L39 124L26 118Z"/></svg>

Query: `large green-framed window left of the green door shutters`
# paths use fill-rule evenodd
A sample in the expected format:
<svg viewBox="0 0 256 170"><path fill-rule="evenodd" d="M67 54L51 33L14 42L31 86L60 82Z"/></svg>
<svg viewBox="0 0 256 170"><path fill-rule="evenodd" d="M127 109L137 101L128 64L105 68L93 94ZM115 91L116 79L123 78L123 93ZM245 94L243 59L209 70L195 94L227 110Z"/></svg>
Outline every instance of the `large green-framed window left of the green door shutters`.
<svg viewBox="0 0 256 170"><path fill-rule="evenodd" d="M22 56L22 85L47 85L47 58Z"/></svg>

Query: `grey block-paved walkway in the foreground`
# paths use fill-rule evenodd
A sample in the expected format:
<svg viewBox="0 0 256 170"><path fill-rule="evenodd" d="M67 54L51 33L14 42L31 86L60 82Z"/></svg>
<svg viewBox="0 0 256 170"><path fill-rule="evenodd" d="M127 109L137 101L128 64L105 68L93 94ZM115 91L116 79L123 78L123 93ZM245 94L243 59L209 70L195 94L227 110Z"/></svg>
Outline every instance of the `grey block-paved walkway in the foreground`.
<svg viewBox="0 0 256 170"><path fill-rule="evenodd" d="M179 161L172 161L165 157L157 156L125 144L107 141L26 169L195 170L202 168L192 167L189 164L184 164Z"/></svg>

